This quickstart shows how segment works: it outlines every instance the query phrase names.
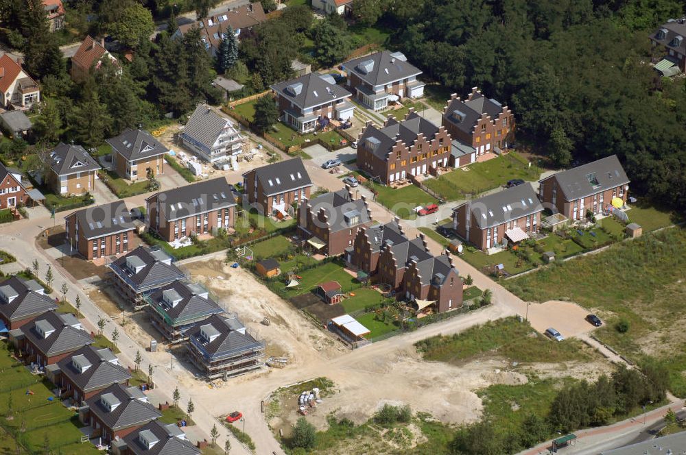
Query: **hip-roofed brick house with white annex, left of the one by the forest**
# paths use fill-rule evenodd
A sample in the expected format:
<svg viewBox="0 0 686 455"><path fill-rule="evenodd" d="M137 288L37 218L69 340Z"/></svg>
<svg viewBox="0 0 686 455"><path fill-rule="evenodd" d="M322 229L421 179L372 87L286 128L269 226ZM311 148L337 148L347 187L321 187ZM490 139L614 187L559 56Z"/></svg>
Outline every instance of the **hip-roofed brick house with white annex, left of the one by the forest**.
<svg viewBox="0 0 686 455"><path fill-rule="evenodd" d="M328 125L329 120L353 118L351 93L336 85L333 76L309 73L271 86L283 123L300 133Z"/></svg>

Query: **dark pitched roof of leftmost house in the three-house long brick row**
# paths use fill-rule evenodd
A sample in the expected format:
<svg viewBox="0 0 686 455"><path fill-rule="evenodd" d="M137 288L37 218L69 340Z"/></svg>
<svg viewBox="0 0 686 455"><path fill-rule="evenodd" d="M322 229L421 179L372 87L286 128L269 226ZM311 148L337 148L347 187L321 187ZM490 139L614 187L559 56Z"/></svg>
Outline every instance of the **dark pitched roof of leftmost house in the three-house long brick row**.
<svg viewBox="0 0 686 455"><path fill-rule="evenodd" d="M131 212L123 200L77 210L67 219L76 217L80 233L87 239L109 236L135 229Z"/></svg>

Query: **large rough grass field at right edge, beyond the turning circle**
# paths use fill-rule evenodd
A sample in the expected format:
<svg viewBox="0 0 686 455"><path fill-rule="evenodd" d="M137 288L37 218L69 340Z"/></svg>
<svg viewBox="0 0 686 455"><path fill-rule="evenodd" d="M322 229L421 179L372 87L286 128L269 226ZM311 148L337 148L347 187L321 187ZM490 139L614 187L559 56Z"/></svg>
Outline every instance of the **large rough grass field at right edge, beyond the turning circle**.
<svg viewBox="0 0 686 455"><path fill-rule="evenodd" d="M647 354L669 369L672 393L686 396L686 231L672 228L507 280L504 286L525 300L563 299L597 312L602 341L639 362ZM617 322L628 322L624 333Z"/></svg>

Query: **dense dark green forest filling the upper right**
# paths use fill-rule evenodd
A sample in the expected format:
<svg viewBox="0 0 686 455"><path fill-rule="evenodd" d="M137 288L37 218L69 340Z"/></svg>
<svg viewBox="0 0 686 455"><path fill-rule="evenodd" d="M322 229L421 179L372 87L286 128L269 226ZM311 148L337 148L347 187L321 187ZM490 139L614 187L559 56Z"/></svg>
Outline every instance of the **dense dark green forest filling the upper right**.
<svg viewBox="0 0 686 455"><path fill-rule="evenodd" d="M358 0L357 3L376 3ZM686 84L649 65L648 34L680 0L403 0L368 21L451 90L514 110L519 137L559 165L616 153L632 188L686 209ZM403 24L403 27L397 27Z"/></svg>

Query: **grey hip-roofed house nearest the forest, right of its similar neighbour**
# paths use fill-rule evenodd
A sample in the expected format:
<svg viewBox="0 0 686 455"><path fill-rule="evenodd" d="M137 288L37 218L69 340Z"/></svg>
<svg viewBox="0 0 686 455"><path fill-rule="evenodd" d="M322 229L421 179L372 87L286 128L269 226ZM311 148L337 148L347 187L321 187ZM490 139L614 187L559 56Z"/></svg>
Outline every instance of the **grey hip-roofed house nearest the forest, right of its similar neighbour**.
<svg viewBox="0 0 686 455"><path fill-rule="evenodd" d="M389 101L424 95L421 70L407 62L401 52L381 51L341 65L355 99L373 110L384 110Z"/></svg>

